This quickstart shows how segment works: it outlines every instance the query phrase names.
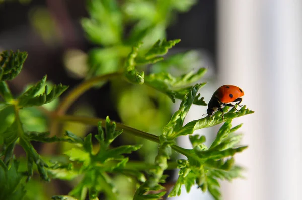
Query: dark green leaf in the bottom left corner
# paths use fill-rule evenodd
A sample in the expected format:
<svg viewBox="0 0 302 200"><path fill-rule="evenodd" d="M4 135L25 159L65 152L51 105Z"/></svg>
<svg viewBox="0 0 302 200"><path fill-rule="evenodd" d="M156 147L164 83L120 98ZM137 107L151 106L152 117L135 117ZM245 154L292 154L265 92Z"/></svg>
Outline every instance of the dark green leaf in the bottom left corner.
<svg viewBox="0 0 302 200"><path fill-rule="evenodd" d="M22 175L18 172L18 162L13 161L8 168L0 159L0 199L15 200L25 196Z"/></svg>

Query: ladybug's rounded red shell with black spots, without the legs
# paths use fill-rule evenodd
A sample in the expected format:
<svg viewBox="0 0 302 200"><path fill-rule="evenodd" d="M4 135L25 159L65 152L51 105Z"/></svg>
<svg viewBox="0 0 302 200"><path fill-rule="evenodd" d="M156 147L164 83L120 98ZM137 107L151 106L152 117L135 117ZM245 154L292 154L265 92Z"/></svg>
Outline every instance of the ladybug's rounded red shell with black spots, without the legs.
<svg viewBox="0 0 302 200"><path fill-rule="evenodd" d="M222 103L229 103L243 95L244 92L239 87L234 85L223 85L215 91L213 97L218 98Z"/></svg>

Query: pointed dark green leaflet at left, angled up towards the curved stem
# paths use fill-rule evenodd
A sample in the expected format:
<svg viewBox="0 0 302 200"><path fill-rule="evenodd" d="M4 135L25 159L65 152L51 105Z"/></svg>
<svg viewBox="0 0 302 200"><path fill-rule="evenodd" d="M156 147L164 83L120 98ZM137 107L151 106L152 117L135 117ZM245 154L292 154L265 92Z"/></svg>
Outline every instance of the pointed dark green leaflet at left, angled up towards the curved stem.
<svg viewBox="0 0 302 200"><path fill-rule="evenodd" d="M32 107L32 106L41 106L52 102L54 99L58 98L68 86L59 84L53 85L53 88L48 92L48 86L45 86L45 91L36 96L36 94L42 89L46 81L46 76L43 77L36 85L30 87L26 92L18 97L18 106L19 107Z"/></svg>

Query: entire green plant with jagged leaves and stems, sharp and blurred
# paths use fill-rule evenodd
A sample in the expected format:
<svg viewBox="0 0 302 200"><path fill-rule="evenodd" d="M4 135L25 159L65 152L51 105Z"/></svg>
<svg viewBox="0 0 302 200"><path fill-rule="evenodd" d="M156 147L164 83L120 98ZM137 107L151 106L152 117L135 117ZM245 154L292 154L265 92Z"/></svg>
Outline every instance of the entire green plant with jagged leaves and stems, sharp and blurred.
<svg viewBox="0 0 302 200"><path fill-rule="evenodd" d="M220 199L218 180L232 180L241 176L242 168L234 164L233 156L247 146L239 145L241 135L235 133L241 124L232 127L231 122L233 118L253 111L245 106L239 111L225 107L225 122L222 121L221 113L216 112L213 120L205 117L184 125L184 119L192 104L206 106L203 97L198 94L198 90L206 83L196 84L206 69L200 68L197 72L191 71L178 76L169 73L168 67L171 63L176 63L176 67L184 71L182 63L186 60L187 53L177 54L162 61L168 50L180 42L163 39L165 28L169 24L167 19L170 19L167 16L171 16L175 10L188 10L194 1L165 2L124 1L120 6L112 0L88 1L91 18L83 19L82 25L87 37L103 47L90 51L90 69L85 80L69 91L61 101L58 101L58 97L68 87L46 82L46 76L38 83L28 86L21 95L14 97L7 81L20 73L27 53L5 51L1 54L0 199L30 199L30 196L37 196L37 193L26 193L26 190L30 191L31 184L38 182L35 176L32 178L35 172L38 172L44 181L50 181L50 178L70 182L73 180L68 196L56 195L53 199L85 199L87 195L89 199L98 199L101 193L105 194L107 199L123 199L125 196L115 187L118 183L115 178L121 175L134 182L131 198L159 199L166 193L163 186L167 178L165 170L176 168L180 169L179 177L169 196L179 195L182 185L185 185L186 191L189 192L191 187L197 184L203 192L208 190L215 199ZM140 8L145 10L140 11ZM123 29L127 23L134 23L134 27L131 34L124 39ZM160 36L155 34L157 32ZM157 39L154 40L154 37ZM185 63L188 64L190 63ZM144 73L148 65L151 65L149 67L152 70L150 73ZM135 116L131 116L132 121L121 124L111 121L109 117L99 119L66 114L71 104L85 91L93 87L98 88L107 81L111 81L112 90L117 97L121 97L124 90L143 88L139 95L157 96L157 101L162 106L166 105L167 101L175 103L176 99L180 99L181 104L178 111L170 116L170 121L161 127L159 136L135 129L143 124L143 121L135 123L136 119L141 120ZM137 96L135 94L136 98ZM119 110L121 115L123 109L128 108L122 107ZM41 114L50 119L52 132L45 126L45 121L37 121L45 119L39 116ZM166 115L169 116L169 112ZM34 125L28 122L28 118L36 119ZM133 119L135 128L127 125L133 123ZM98 133L81 137L66 130L62 136L58 124L65 122L97 126ZM210 147L204 145L204 136L192 135L195 130L220 123L223 125ZM146 124L153 126L149 121ZM134 135L140 140L136 140L137 144L118 147L111 145L117 137L125 134ZM189 135L192 149L184 149L175 143L176 138L185 135ZM97 142L93 142L94 138ZM153 162L132 161L125 156L133 151L143 150L147 146L143 142L145 140L158 144L152 149L156 152ZM42 144L66 143L71 146L62 152L62 155L43 156L37 153L32 141ZM15 155L16 145L24 149L26 159ZM175 157L173 152L182 154L187 159L172 159Z"/></svg>

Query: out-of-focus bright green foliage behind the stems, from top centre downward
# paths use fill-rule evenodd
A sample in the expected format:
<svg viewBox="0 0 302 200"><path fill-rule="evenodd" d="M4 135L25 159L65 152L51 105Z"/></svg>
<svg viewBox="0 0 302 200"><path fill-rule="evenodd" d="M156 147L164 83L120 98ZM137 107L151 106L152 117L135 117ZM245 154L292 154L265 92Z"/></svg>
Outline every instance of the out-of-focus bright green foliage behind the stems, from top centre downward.
<svg viewBox="0 0 302 200"><path fill-rule="evenodd" d="M81 24L87 38L100 47L88 52L89 69L86 78L121 70L132 46L139 48L139 51L135 50L136 59L132 61L137 67L135 71L131 71L132 75L129 73L129 78L133 77L133 80L129 79L131 82L136 81L135 74L137 78L141 78L138 74L142 70L169 73L168 70L174 67L176 74L191 71L191 67L200 63L200 58L196 56L195 51L176 53L173 57L168 57L165 63L157 62L163 58L156 55L166 54L168 50L166 47L174 46L179 42L175 40L173 44L169 44L165 40L160 43L160 40L166 38L166 29L172 24L177 13L187 12L195 3L194 0L87 1L90 18L82 19ZM143 43L137 46L139 41ZM161 48L161 46L166 47ZM124 124L159 135L163 125L169 121L172 104L169 99L152 88L159 89L158 84L152 82L152 76L146 78L151 87L136 87L125 84L122 80L111 81L111 90L114 91L112 101L115 102ZM198 78L195 79L197 80ZM175 101L175 92L170 92L171 86L160 87L163 93L168 94ZM182 97L183 95L178 95L179 99ZM124 137L123 140L147 143L139 153L148 162L154 160L157 144L131 136Z"/></svg>

